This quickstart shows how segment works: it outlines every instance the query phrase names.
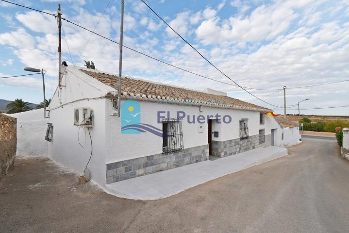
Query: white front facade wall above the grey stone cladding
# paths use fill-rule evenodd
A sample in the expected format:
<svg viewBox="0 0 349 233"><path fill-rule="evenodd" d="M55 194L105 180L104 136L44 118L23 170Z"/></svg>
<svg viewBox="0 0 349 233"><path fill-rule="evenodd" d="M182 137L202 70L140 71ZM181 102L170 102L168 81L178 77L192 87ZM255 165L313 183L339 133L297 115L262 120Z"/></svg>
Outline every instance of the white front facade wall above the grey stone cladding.
<svg viewBox="0 0 349 233"><path fill-rule="evenodd" d="M259 124L259 112L219 109L204 106L202 107L202 112L199 112L198 106L185 106L146 101L138 102L141 106L141 123L150 124L159 129L162 129L162 124L157 123L158 111L165 111L166 114L164 115L166 117L167 111L170 112L170 117L176 117L177 111L183 111L186 113L186 117L190 115L191 119L193 115L215 116L217 113L221 116L230 115L232 117L232 122L230 124L216 124L216 121L213 121L212 131L218 131L219 137L214 137L214 135L212 135L212 140L226 141L239 138L239 120L241 118L249 119L249 135L259 134L260 129L265 129L266 135L270 134L270 123L266 122L265 125ZM115 110L112 108L110 103L107 103L106 108L108 113L106 116L106 163L162 153L161 137L149 132L140 134L120 134L121 118L118 118L117 116L111 116L112 113L115 112ZM186 117L182 120L184 148L207 145L208 124L202 124L203 133L199 133L199 123L196 122L195 124L189 124L187 123Z"/></svg>

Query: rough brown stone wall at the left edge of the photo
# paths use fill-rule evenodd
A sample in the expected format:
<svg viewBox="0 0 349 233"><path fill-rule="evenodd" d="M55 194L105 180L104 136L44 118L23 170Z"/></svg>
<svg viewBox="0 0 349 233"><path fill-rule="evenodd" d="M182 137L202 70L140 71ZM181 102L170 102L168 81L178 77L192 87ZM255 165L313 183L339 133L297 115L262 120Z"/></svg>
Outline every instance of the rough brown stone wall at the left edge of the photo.
<svg viewBox="0 0 349 233"><path fill-rule="evenodd" d="M13 168L17 147L17 119L0 114L0 178Z"/></svg>

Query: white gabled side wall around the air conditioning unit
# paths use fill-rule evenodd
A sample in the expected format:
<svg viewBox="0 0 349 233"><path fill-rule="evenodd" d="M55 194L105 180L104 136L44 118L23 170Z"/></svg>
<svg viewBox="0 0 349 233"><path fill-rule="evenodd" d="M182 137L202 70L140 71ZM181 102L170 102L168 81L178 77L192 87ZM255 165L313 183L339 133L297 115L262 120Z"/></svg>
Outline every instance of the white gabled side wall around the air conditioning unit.
<svg viewBox="0 0 349 233"><path fill-rule="evenodd" d="M92 180L105 184L105 106L106 99L83 100L86 98L98 98L114 89L98 82L86 74L67 67L62 79L61 87L56 90L50 104L50 120L53 124L53 140L49 143L50 157L83 174L91 152L91 142L87 128L80 129L80 143L78 142L79 128L74 126L74 109L88 107L93 110L93 127L89 128L93 154L88 168L91 171ZM73 103L71 101L79 100ZM66 104L68 103L68 104ZM66 104L66 105L64 105ZM54 109L58 106L63 107ZM85 129L85 131L83 131Z"/></svg>

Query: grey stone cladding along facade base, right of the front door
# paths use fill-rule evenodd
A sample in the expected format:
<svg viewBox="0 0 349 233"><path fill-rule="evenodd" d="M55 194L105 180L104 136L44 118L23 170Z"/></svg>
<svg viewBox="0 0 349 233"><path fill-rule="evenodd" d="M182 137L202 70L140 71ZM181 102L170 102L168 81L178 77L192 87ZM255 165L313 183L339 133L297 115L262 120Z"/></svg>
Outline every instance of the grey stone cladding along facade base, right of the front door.
<svg viewBox="0 0 349 233"><path fill-rule="evenodd" d="M252 135L247 139L241 140L235 138L228 141L212 141L212 155L218 157L226 157L233 154L238 154L247 150L252 150L258 147L271 146L271 134L265 136L265 143L259 143L260 135Z"/></svg>

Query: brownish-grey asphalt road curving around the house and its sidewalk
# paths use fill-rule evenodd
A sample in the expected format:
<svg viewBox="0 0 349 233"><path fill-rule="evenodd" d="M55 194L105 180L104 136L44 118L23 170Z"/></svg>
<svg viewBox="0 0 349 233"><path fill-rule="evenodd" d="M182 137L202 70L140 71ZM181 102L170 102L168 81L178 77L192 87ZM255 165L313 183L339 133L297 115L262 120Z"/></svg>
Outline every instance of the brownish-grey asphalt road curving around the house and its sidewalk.
<svg viewBox="0 0 349 233"><path fill-rule="evenodd" d="M156 201L116 198L48 159L17 160L0 181L0 232L344 233L349 162L335 141Z"/></svg>

